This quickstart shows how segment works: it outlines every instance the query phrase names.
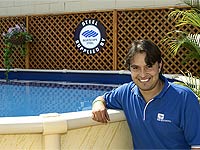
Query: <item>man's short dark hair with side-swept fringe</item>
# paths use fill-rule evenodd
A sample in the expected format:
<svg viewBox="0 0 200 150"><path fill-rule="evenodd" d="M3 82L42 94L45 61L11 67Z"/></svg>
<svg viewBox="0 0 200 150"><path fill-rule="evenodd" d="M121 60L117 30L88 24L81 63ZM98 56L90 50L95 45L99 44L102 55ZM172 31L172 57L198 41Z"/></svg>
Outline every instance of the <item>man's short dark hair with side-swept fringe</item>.
<svg viewBox="0 0 200 150"><path fill-rule="evenodd" d="M145 62L148 66L153 66L156 62L161 63L161 51L157 45L150 40L135 40L131 44L125 58L125 66L130 69L130 61L137 53L146 53Z"/></svg>

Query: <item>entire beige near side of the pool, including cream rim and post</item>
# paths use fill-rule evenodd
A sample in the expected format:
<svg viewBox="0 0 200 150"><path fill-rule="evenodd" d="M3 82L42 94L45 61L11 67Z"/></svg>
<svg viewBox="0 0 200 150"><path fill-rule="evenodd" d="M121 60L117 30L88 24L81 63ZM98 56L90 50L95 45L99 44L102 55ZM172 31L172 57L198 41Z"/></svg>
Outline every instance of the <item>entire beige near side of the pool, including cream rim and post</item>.
<svg viewBox="0 0 200 150"><path fill-rule="evenodd" d="M0 118L0 150L133 149L123 112L109 114L107 124L93 121L91 111Z"/></svg>

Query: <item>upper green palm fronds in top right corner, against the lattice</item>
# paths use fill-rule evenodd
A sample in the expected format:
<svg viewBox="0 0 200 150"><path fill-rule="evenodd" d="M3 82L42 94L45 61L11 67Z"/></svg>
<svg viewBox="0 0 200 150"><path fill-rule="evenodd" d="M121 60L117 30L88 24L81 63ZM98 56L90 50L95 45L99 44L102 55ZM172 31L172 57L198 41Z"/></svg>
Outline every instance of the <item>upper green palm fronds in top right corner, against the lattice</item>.
<svg viewBox="0 0 200 150"><path fill-rule="evenodd" d="M186 4L191 6L189 10L176 9L169 14L170 19L174 19L176 27L190 25L200 28L200 2L199 0L184 0ZM180 47L189 50L186 54L185 61L189 59L200 60L200 34L187 33L185 31L174 30L167 34L163 40L169 46L170 51L176 55Z"/></svg>

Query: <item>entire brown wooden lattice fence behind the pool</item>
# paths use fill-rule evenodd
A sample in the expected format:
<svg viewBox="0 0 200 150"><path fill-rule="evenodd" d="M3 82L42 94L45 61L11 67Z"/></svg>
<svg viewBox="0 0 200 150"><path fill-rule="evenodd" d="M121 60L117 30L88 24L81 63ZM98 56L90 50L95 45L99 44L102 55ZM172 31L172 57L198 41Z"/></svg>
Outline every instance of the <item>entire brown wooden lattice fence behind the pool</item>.
<svg viewBox="0 0 200 150"><path fill-rule="evenodd" d="M18 51L13 55L13 68L72 69L72 70L125 70L124 57L133 39L151 39L162 50L164 73L174 74L189 70L194 75L200 72L200 62L191 60L182 63L186 49L172 57L168 47L161 41L175 28L168 19L171 9L131 9L104 12L70 13L57 15L33 15L0 18L0 34L15 24L26 24L34 41L29 45L29 55L22 58ZM106 28L106 44L93 55L76 49L74 32L84 19L97 19ZM200 29L186 26L185 31L199 33ZM2 38L0 49L3 49ZM0 51L0 68L3 65L3 50Z"/></svg>

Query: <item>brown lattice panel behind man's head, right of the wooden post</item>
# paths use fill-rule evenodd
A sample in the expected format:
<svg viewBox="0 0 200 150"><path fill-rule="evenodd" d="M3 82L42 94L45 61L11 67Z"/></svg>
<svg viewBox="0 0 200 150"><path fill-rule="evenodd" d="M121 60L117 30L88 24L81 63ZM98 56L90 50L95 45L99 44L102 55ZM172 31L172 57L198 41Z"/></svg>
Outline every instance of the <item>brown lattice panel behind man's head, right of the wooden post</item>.
<svg viewBox="0 0 200 150"><path fill-rule="evenodd" d="M151 39L162 50L164 61L164 73L181 73L189 70L194 75L200 72L200 62L197 60L183 64L182 60L186 49L182 49L176 57L170 55L168 47L161 41L168 32L176 29L175 23L168 19L169 9L132 10L118 12L118 70L124 68L124 57L129 44L135 39ZM183 27L183 31L199 33L200 29Z"/></svg>

